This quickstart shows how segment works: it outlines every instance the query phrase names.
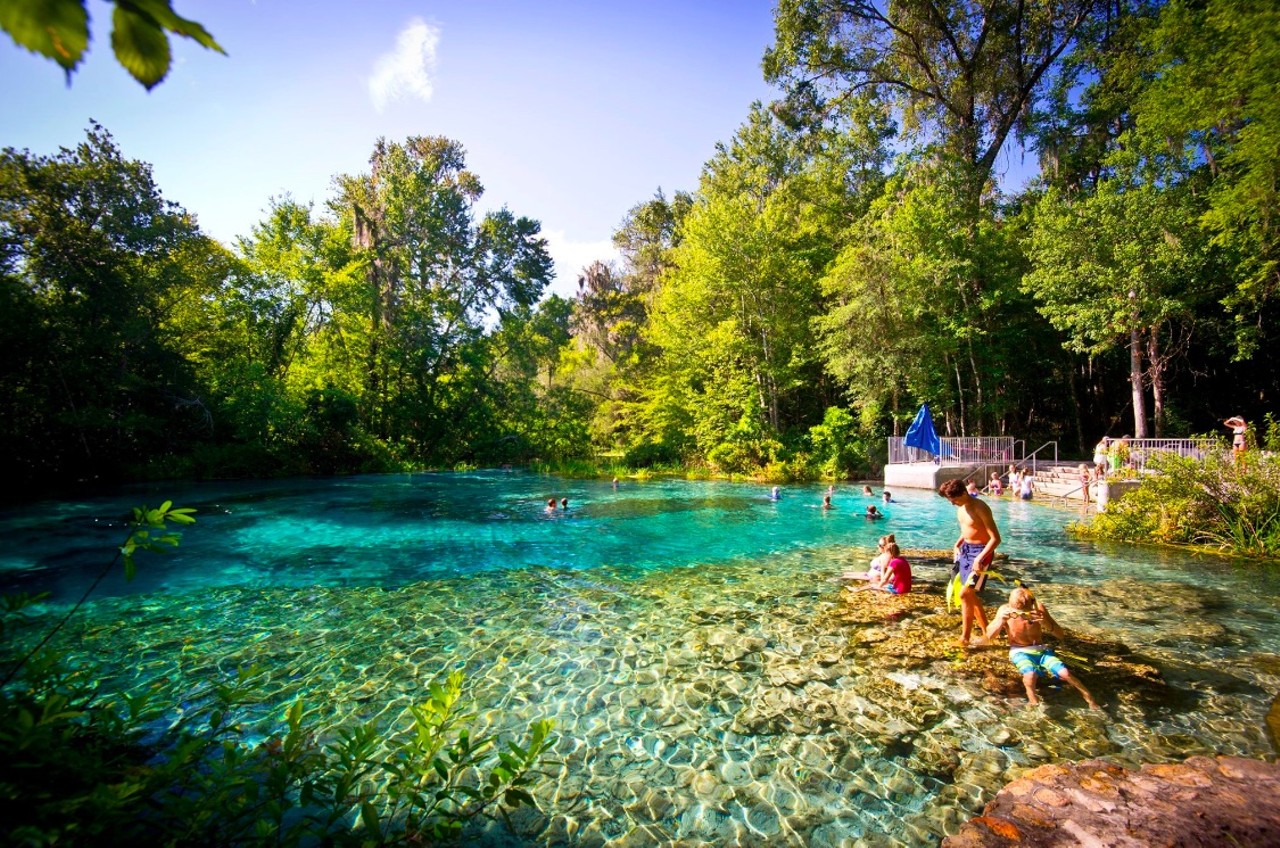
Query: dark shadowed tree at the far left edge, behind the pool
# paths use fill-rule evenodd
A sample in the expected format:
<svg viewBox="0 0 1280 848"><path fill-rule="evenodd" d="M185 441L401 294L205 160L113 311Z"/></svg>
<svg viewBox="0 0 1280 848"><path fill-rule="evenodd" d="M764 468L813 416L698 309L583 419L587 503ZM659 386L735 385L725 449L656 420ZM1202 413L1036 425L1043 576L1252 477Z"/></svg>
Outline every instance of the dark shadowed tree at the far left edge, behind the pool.
<svg viewBox="0 0 1280 848"><path fill-rule="evenodd" d="M0 154L0 418L6 479L118 478L183 450L207 409L172 332L225 251L92 126L76 149Z"/></svg>

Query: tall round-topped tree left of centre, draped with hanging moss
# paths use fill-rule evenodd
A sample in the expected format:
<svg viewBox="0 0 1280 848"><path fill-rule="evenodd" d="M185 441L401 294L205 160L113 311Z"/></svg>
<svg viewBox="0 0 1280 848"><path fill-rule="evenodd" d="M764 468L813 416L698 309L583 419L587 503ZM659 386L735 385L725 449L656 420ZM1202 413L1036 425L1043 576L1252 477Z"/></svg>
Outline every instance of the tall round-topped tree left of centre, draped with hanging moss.
<svg viewBox="0 0 1280 848"><path fill-rule="evenodd" d="M529 307L552 277L540 225L507 209L477 220L483 188L462 146L379 140L371 172L338 178L334 208L366 269L362 388L372 430L425 456L467 451L493 351L488 322Z"/></svg>

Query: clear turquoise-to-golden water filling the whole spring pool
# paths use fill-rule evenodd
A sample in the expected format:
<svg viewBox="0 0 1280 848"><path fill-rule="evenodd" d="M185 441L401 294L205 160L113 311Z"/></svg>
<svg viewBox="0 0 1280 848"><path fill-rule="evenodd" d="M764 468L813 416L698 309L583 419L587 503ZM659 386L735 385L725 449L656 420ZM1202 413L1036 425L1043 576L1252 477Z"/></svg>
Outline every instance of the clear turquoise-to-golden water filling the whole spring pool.
<svg viewBox="0 0 1280 848"><path fill-rule="evenodd" d="M133 584L106 582L69 642L105 680L164 680L179 702L261 664L271 699L250 720L264 735L298 696L394 720L462 667L494 728L557 719L563 765L544 813L520 819L530 844L932 844L1028 766L1275 754L1275 567L1079 543L1062 532L1074 512L997 500L1004 570L1069 630L1126 643L1164 679L1094 687L1101 715L1057 688L1025 710L945 653L876 655L906 620L840 617L836 574L886 532L950 547L952 507L902 491L869 523L860 487L829 512L823 491L787 487L774 503L753 484L614 491L498 471L170 488L198 523L177 553L140 559ZM567 512L545 510L553 494ZM73 601L128 507L160 500L0 514L0 585ZM943 569L916 575L928 596Z"/></svg>

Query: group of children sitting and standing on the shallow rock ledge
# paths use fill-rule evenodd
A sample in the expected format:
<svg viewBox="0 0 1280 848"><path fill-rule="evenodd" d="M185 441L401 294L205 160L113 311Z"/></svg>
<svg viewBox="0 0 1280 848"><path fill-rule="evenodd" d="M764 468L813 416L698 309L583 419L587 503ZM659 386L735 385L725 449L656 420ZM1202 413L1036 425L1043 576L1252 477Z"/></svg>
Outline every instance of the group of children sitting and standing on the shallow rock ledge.
<svg viewBox="0 0 1280 848"><path fill-rule="evenodd" d="M996 611L993 620L987 619L980 593L987 584L987 569L1000 546L1000 528L988 506L973 489L972 483L947 480L938 487L938 494L956 507L956 521L960 535L955 543L952 579L959 584L960 599L960 644L964 648L986 646L1006 632L1009 635L1009 660L1021 675L1027 690L1027 701L1039 703L1036 681L1039 674L1055 676L1074 687L1091 708L1098 710L1097 701L1066 665L1053 655L1053 648L1044 644L1044 634L1064 638L1065 633L1050 615L1048 608L1021 583L1009 593L1009 602ZM877 544L877 555L865 573L846 573L845 579L865 580L855 592L881 591L891 594L906 594L911 591L911 566L902 557L893 534L882 535ZM978 635L973 635L974 624Z"/></svg>

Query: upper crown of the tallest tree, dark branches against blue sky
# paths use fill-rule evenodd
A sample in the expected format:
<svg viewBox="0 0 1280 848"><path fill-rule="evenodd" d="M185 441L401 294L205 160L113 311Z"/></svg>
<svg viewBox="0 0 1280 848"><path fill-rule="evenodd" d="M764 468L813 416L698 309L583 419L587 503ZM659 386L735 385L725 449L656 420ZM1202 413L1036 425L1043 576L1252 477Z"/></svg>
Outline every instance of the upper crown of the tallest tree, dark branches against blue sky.
<svg viewBox="0 0 1280 848"><path fill-rule="evenodd" d="M781 0L765 77L794 114L842 100L892 104L982 190L1005 142L1050 90L1098 0Z"/></svg>

